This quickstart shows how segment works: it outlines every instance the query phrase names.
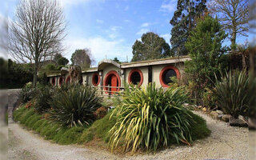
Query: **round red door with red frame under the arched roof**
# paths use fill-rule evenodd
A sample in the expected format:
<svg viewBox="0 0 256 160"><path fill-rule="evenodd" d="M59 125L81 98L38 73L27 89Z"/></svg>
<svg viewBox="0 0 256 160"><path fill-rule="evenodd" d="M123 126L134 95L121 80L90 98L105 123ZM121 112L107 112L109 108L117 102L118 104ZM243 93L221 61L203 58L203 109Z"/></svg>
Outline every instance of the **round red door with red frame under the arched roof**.
<svg viewBox="0 0 256 160"><path fill-rule="evenodd" d="M111 86L111 94L119 91L121 86L121 80L118 73L114 70L111 70L109 73L107 73L104 78L103 86L106 94L109 94L109 88L107 86Z"/></svg>

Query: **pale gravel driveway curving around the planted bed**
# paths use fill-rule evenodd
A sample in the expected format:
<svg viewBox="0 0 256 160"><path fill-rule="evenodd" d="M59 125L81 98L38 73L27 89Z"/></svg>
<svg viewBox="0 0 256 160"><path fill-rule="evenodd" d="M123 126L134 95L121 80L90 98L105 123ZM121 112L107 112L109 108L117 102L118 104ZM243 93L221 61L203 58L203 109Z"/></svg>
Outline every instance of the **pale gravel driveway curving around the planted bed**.
<svg viewBox="0 0 256 160"><path fill-rule="evenodd" d="M209 138L194 142L193 146L171 146L158 154L138 154L124 159L248 159L248 129L231 127L226 122L210 118L201 111L195 114L206 119L212 131ZM61 146L44 140L18 123L9 123L9 159L120 159L104 150L86 146Z"/></svg>

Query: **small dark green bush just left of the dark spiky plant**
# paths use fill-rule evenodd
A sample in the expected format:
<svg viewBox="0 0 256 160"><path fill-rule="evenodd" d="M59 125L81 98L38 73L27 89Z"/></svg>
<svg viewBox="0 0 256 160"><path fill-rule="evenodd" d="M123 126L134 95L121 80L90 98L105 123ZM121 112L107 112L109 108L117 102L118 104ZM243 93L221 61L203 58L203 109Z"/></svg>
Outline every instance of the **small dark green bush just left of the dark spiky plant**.
<svg viewBox="0 0 256 160"><path fill-rule="evenodd" d="M50 86L38 87L37 94L34 96L34 109L38 113L43 113L50 109L49 102L52 99L53 93L54 89L51 89Z"/></svg>

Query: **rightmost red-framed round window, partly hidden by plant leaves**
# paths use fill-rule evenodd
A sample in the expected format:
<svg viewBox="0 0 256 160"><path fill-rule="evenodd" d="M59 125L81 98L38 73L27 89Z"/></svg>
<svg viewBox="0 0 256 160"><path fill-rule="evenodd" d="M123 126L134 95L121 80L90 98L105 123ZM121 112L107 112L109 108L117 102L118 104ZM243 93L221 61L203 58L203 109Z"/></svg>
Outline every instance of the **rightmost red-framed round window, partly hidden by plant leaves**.
<svg viewBox="0 0 256 160"><path fill-rule="evenodd" d="M164 67L161 70L160 76L159 76L161 85L164 87L168 87L168 84L172 82L170 79L172 77L180 78L178 68L176 68L175 66Z"/></svg>

